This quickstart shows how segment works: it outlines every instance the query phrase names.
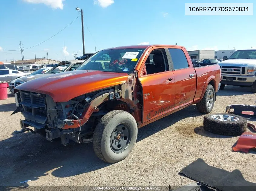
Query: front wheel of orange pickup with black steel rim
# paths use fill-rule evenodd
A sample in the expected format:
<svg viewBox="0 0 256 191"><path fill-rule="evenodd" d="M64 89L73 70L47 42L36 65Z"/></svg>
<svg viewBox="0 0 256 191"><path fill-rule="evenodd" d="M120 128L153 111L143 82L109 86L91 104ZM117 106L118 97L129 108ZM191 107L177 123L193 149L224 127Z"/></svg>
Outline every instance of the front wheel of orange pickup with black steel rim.
<svg viewBox="0 0 256 191"><path fill-rule="evenodd" d="M105 114L93 135L93 149L101 160L115 163L125 159L133 149L138 134L134 117L122 110Z"/></svg>

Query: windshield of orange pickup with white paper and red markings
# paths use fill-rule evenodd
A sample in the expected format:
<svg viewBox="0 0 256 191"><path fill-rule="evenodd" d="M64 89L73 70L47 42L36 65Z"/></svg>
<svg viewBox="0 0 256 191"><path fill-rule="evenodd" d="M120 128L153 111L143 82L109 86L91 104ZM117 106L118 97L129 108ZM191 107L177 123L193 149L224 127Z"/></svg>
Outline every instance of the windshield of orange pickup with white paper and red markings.
<svg viewBox="0 0 256 191"><path fill-rule="evenodd" d="M88 58L77 70L99 70L102 72L131 73L145 49L101 50Z"/></svg>

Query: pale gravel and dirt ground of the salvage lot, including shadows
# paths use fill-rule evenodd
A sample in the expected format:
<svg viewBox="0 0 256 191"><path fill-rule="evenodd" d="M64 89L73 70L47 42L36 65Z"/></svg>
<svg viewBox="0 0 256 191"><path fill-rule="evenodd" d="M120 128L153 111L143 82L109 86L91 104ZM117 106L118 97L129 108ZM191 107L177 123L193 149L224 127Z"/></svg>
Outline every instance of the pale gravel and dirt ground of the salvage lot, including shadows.
<svg viewBox="0 0 256 191"><path fill-rule="evenodd" d="M250 88L226 86L217 93L212 113L224 113L229 104L254 104ZM203 117L195 105L138 130L131 154L116 164L96 157L92 143L63 146L38 134L13 134L20 130L21 113L8 94L0 101L0 185L182 186L192 183L178 172L198 158L228 171L238 169L256 183L256 152L233 152L238 136L222 136L203 129ZM256 125L255 121L250 123ZM249 131L249 130L248 130Z"/></svg>

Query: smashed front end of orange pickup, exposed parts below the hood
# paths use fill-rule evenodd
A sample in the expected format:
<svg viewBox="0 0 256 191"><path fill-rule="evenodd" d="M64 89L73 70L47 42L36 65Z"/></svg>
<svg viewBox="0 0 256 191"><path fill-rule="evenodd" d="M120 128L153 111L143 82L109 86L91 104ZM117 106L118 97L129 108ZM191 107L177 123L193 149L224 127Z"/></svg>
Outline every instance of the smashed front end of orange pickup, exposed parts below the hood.
<svg viewBox="0 0 256 191"><path fill-rule="evenodd" d="M65 102L55 102L48 94L15 90L17 109L12 114L20 111L25 117L25 120L20 119L22 130L16 133L40 133L51 142L61 138L63 145L70 140L91 142L98 121L111 110L131 113L140 126L142 88L139 81L136 83L136 75L136 72L128 75L122 84L82 94Z"/></svg>

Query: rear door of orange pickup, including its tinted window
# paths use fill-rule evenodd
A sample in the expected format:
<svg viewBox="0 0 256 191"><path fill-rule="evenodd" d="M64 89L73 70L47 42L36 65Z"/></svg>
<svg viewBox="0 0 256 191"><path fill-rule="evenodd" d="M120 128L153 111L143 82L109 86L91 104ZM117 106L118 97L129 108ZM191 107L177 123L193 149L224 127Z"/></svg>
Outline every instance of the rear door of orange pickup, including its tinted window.
<svg viewBox="0 0 256 191"><path fill-rule="evenodd" d="M194 67L188 64L189 56L183 48L168 48L175 78L175 107L190 104L196 91L196 73ZM188 54L188 53L187 53Z"/></svg>

